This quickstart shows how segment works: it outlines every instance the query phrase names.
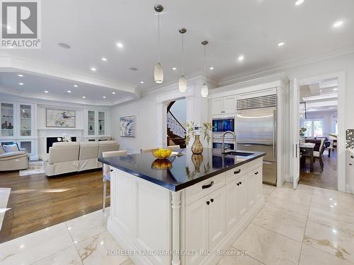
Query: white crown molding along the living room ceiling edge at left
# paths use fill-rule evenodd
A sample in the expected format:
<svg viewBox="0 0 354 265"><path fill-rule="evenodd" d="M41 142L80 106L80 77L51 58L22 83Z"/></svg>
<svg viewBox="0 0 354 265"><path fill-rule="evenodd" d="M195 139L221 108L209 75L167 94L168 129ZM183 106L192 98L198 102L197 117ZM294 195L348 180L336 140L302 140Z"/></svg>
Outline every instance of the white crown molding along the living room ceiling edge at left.
<svg viewBox="0 0 354 265"><path fill-rule="evenodd" d="M77 83L86 83L91 86L110 88L114 90L131 93L133 98L139 98L140 92L137 86L130 86L125 83L118 83L108 79L89 76L85 73L79 73L72 69L63 69L61 66L44 64L33 61L25 57L14 57L4 52L0 53L0 70L8 72L21 71L23 73L34 74L36 76L45 76L59 80L73 81Z"/></svg>

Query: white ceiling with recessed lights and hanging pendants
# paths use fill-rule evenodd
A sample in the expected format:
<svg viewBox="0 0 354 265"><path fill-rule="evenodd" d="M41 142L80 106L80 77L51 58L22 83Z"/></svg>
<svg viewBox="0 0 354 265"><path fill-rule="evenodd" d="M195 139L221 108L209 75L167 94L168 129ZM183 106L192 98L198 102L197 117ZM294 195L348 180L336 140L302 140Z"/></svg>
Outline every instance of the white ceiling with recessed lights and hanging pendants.
<svg viewBox="0 0 354 265"><path fill-rule="evenodd" d="M3 54L109 81L117 84L116 89L124 86L135 94L156 88L153 80L157 61L157 17L153 8L156 0L51 0L41 3L42 49L11 49ZM178 28L182 27L188 30L185 33L186 75L202 71L200 42L209 40L207 76L215 81L354 45L352 0L305 0L301 6L295 6L295 0L164 0L159 3L165 8L161 14L161 64L165 83L178 80L181 75ZM337 20L343 20L344 24L334 29L332 25ZM58 42L72 48L62 49ZM124 47L119 49L117 42L122 42ZM285 42L285 45L278 47L279 42ZM237 59L240 54L244 55L242 62ZM108 61L102 61L101 57ZM210 66L215 69L210 70ZM21 64L18 67L21 68ZM96 67L97 71L93 73L91 67ZM138 70L131 71L130 67ZM173 67L177 70L173 71ZM35 76L35 69L30 74ZM25 76L29 79L22 90L39 93L49 90L45 87L51 87L58 94L69 90L66 85L70 86L70 81L42 75L35 80L33 76ZM20 89L16 86L16 76L1 74L1 80L4 90ZM95 87L85 87L86 97L96 100L97 104L110 92L103 88L106 86L97 86L98 83ZM76 100L83 93L77 93ZM124 95L117 95L120 96ZM68 98L74 98L74 94Z"/></svg>

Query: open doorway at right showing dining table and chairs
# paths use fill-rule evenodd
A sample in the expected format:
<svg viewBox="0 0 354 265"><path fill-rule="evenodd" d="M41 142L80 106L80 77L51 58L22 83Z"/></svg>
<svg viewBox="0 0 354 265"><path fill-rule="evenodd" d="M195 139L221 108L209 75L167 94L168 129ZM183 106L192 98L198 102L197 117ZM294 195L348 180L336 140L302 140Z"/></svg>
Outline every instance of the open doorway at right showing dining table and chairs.
<svg viewBox="0 0 354 265"><path fill-rule="evenodd" d="M338 189L338 78L299 86L299 183Z"/></svg>

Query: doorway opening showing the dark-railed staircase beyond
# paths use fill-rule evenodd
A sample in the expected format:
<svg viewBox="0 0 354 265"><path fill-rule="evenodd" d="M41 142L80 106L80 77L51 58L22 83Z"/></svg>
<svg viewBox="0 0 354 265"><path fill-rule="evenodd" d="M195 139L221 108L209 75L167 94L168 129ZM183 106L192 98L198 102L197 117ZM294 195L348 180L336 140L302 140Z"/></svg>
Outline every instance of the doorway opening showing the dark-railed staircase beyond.
<svg viewBox="0 0 354 265"><path fill-rule="evenodd" d="M185 123L187 122L186 100L173 100L167 105L166 135L167 146L185 148Z"/></svg>

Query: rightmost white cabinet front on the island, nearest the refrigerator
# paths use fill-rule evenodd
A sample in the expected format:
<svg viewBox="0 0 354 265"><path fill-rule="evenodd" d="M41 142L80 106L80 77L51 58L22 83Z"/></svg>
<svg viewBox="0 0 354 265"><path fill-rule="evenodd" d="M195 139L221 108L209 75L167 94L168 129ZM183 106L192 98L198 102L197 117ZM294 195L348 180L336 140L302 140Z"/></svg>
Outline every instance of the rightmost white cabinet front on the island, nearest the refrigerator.
<svg viewBox="0 0 354 265"><path fill-rule="evenodd" d="M249 172L249 208L252 208L263 196L263 184L262 184L262 166L256 167L256 169Z"/></svg>

